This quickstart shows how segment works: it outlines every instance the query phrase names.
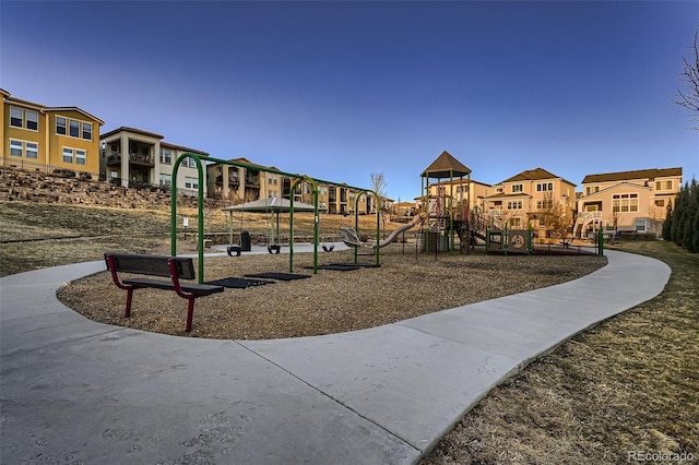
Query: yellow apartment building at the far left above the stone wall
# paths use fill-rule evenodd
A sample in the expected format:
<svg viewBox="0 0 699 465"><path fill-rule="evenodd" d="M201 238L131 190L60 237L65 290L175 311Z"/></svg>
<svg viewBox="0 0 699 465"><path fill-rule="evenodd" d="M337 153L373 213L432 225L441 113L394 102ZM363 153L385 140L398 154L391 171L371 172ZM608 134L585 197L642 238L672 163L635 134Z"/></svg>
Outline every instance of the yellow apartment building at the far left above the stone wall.
<svg viewBox="0 0 699 465"><path fill-rule="evenodd" d="M78 107L48 107L0 90L3 166L97 177L104 121Z"/></svg>

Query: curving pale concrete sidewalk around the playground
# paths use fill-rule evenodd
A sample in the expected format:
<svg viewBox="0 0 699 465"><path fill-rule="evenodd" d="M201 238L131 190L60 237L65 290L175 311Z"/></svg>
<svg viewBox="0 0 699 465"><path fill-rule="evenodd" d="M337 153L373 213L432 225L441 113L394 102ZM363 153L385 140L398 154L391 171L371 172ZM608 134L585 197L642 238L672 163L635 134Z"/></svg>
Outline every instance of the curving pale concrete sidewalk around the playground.
<svg viewBox="0 0 699 465"><path fill-rule="evenodd" d="M1 278L0 461L414 463L502 379L670 277L657 260L607 257L549 288L280 341L145 333L56 299L104 262Z"/></svg>

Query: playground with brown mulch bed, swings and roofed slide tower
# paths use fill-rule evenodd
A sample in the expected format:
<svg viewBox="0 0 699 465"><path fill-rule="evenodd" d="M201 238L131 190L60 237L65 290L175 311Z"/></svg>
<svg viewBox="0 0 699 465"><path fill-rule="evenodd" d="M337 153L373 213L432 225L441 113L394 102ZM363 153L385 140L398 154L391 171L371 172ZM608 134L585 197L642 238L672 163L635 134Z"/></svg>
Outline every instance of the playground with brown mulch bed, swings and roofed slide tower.
<svg viewBox="0 0 699 465"><path fill-rule="evenodd" d="M197 159L197 163L201 177L201 160ZM164 267L158 269L157 275L168 278L165 281L143 276L155 274L153 261L158 259L151 252L147 257L131 254L119 259L131 263L127 266L117 265L117 259L111 254L105 255L110 274L100 273L69 283L59 291L59 298L85 317L109 324L208 338L273 339L394 323L559 284L589 274L606 263L602 247L594 251L597 253L582 253L580 248L572 252L587 255L584 259L546 260L541 252L535 254L531 228L508 231L507 225L502 229L486 226L482 231L483 224L474 214L477 210L471 207L469 192L462 189L460 195L453 194L454 178L459 178L462 188L467 186L470 174L467 167L443 152L420 175L422 207L411 222L381 230L377 212L368 215L376 217L376 227L367 229L365 222L360 236L359 215L355 213L350 215L354 216L354 227L340 227L341 241L337 242L333 236L329 239L321 235L318 186L328 181L294 176L292 191L300 182L310 183L312 204L297 203L295 206L293 200L269 198L223 208L229 215L228 241L217 250L211 250L211 245L205 242L200 191L194 236L197 259L178 259L189 260L190 271L180 278L198 279L197 284L181 284L194 294L180 291L177 275L181 273L178 266L183 264L162 262ZM430 178L436 178L437 184L440 179L448 178L449 194L443 188L433 194ZM360 196L367 192L363 191ZM246 212L269 216L269 234L262 235L263 243L257 240L254 250L249 231L244 230ZM240 215L237 233L236 213ZM312 215L312 233L306 241L298 240L298 229L294 225L294 216L298 224L298 216L304 213ZM181 255L183 241L178 222L177 198L173 193L171 257ZM482 239L485 247L476 248L476 239ZM553 254L568 252L572 245L562 239L558 246ZM298 253L299 248L310 253ZM204 249L218 253L205 255ZM545 255L550 255L550 245L547 249ZM133 287L127 281L123 282L126 287L120 282L118 275L122 272L141 274L127 276L138 289L133 314L130 314ZM125 311L121 310L123 290L128 290ZM163 290L175 290L176 294ZM102 298L94 299L95 295ZM182 325L179 297L189 301L186 326ZM196 311L194 301L198 303ZM193 330L192 319L196 320Z"/></svg>

